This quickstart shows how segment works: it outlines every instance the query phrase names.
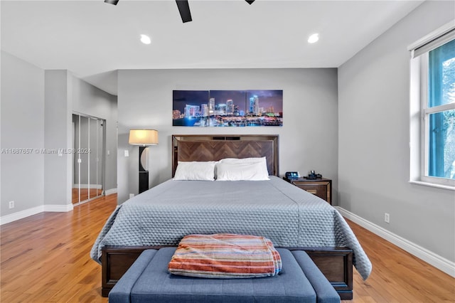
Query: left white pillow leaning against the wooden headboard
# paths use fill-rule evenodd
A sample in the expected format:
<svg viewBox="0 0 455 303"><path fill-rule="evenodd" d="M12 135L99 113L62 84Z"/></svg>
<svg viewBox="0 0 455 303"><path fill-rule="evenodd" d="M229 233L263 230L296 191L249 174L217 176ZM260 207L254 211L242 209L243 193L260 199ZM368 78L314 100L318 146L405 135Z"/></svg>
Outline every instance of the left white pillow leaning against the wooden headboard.
<svg viewBox="0 0 455 303"><path fill-rule="evenodd" d="M178 161L174 180L213 181L216 161Z"/></svg>

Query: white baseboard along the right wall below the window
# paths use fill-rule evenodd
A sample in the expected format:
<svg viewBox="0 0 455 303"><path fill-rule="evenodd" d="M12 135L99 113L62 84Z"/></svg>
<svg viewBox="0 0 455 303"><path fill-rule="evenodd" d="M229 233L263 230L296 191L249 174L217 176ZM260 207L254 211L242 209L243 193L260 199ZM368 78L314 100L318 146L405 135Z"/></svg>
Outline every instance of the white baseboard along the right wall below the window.
<svg viewBox="0 0 455 303"><path fill-rule="evenodd" d="M343 217L348 218L363 228L370 230L370 232L379 235L381 238L384 238L390 243L397 245L399 248L406 250L419 259L424 260L430 265L445 272L447 275L455 277L455 262L447 260L445 257L441 257L440 255L427 250L427 248L422 248L422 246L412 243L410 240L406 240L405 238L400 237L400 235L395 235L395 233L391 233L389 230L386 230L385 228L382 228L375 223L371 223L370 221L365 220L364 218L361 218L354 213L351 213L350 211L346 211L346 209L341 208L340 206L336 206L336 209L341 213Z"/></svg>

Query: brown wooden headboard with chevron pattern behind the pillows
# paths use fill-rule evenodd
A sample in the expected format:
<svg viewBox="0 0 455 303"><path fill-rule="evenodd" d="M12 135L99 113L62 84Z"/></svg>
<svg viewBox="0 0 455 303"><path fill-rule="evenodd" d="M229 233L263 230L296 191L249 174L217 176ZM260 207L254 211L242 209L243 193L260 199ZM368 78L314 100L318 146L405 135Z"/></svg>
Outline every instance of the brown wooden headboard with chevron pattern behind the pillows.
<svg viewBox="0 0 455 303"><path fill-rule="evenodd" d="M223 158L267 158L270 175L279 176L278 135L173 134L172 176L178 161L218 161Z"/></svg>

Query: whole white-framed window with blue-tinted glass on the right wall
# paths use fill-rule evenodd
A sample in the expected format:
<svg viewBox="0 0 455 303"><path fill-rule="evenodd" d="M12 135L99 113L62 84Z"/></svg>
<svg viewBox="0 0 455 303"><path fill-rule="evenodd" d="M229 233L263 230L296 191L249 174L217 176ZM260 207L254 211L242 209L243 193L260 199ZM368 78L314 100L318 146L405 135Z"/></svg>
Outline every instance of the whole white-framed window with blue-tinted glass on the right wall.
<svg viewBox="0 0 455 303"><path fill-rule="evenodd" d="M454 22L409 49L411 181L455 189Z"/></svg>

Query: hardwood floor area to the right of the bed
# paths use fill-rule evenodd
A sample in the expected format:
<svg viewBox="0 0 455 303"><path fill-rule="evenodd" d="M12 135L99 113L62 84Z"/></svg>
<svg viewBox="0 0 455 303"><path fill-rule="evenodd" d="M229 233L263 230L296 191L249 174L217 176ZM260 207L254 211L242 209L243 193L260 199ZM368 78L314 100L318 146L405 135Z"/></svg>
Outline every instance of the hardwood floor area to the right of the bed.
<svg viewBox="0 0 455 303"><path fill-rule="evenodd" d="M455 278L348 220L373 263L366 281L354 270L355 302L455 302Z"/></svg>

